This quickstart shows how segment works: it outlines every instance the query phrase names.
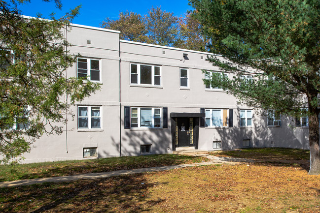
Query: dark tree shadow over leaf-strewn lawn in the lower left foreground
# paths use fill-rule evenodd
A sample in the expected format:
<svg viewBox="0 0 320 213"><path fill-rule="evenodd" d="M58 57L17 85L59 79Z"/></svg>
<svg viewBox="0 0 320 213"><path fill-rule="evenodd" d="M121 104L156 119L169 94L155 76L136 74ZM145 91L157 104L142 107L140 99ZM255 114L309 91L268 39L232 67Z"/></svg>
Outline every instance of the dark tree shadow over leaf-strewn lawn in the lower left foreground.
<svg viewBox="0 0 320 213"><path fill-rule="evenodd" d="M150 200L142 174L71 183L0 188L0 212L148 212L164 200ZM2 210L1 210L2 209Z"/></svg>

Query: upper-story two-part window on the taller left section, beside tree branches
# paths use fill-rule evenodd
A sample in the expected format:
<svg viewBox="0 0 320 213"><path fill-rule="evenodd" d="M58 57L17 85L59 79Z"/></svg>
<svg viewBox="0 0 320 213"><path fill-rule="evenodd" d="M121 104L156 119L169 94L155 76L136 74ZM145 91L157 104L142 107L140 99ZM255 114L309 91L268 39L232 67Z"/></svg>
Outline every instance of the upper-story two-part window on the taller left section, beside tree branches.
<svg viewBox="0 0 320 213"><path fill-rule="evenodd" d="M100 60L77 58L77 77L87 77L90 81L100 82Z"/></svg>

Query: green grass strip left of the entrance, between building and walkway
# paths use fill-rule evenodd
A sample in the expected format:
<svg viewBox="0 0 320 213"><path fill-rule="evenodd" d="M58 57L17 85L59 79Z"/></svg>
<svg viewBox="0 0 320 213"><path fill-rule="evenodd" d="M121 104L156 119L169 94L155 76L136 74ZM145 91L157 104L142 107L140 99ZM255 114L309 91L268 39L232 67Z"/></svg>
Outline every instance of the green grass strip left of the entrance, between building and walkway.
<svg viewBox="0 0 320 213"><path fill-rule="evenodd" d="M57 177L80 173L110 172L116 170L198 163L202 161L208 161L208 158L178 154L152 154L20 164L15 165L14 167L10 165L0 165L0 181Z"/></svg>

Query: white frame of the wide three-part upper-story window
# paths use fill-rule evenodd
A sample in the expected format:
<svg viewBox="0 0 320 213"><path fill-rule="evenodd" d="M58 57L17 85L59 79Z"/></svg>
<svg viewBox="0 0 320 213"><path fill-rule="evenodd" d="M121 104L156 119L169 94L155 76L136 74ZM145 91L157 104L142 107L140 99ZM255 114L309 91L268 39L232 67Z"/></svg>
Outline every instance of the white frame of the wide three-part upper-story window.
<svg viewBox="0 0 320 213"><path fill-rule="evenodd" d="M132 65L137 65L137 73L132 73ZM141 65L151 66L151 84L142 84L141 83ZM155 75L155 67L159 67L160 75ZM137 75L137 83L132 83L132 75ZM155 77L160 77L160 84L155 84ZM162 66L152 65L152 64L143 64L143 63L130 63L130 85L150 85L155 87L162 86Z"/></svg>

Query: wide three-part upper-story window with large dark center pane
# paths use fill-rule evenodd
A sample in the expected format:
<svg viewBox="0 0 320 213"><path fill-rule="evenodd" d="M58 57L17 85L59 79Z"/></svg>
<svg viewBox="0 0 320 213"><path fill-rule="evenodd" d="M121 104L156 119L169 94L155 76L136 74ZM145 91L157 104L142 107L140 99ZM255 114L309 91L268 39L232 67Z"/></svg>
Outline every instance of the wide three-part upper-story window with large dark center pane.
<svg viewBox="0 0 320 213"><path fill-rule="evenodd" d="M131 63L130 83L161 86L161 66Z"/></svg>

